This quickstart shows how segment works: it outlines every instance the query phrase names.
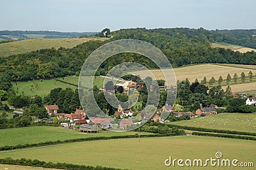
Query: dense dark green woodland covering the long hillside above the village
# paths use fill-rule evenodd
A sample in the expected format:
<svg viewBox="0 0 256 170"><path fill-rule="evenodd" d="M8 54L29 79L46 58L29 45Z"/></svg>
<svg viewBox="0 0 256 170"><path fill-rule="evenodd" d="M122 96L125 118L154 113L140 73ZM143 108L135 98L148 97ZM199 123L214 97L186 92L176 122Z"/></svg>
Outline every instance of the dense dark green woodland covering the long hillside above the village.
<svg viewBox="0 0 256 170"><path fill-rule="evenodd" d="M173 67L200 63L256 64L255 52L239 53L223 48L211 48L208 39L214 41L214 38L217 39L218 36L215 31L214 34L211 34L214 37L212 40L209 32L211 31L205 29L121 29L112 32L113 38L103 42L88 41L71 49L51 48L0 57L0 71L7 74L11 81L79 74L83 61L93 50L109 41L124 38L141 39L152 43L163 51ZM206 34L208 34L208 38ZM218 35L220 36L220 34ZM253 37L253 39L255 38ZM253 43L253 39L250 40L251 43ZM156 65L146 57L134 53L124 53L115 55L104 62L99 68L100 74L106 74L109 69L121 62L134 60L148 68L156 68Z"/></svg>

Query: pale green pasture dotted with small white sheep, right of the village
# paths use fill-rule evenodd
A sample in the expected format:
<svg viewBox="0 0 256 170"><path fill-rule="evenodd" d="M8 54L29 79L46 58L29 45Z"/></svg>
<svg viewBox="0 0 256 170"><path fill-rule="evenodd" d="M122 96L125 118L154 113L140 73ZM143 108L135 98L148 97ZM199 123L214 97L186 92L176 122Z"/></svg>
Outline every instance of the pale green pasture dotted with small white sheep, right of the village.
<svg viewBox="0 0 256 170"><path fill-rule="evenodd" d="M256 132L256 113L220 113L168 124L229 131Z"/></svg>

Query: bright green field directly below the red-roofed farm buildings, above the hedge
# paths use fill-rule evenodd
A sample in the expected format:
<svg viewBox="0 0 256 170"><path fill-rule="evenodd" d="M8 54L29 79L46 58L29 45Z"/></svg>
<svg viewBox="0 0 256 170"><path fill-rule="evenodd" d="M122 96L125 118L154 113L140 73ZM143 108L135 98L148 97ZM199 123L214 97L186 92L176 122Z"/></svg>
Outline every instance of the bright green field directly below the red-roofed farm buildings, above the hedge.
<svg viewBox="0 0 256 170"><path fill-rule="evenodd" d="M12 129L0 129L0 147L22 145L26 143L40 143L46 141L64 141L67 139L91 138L96 136L125 136L136 133L138 132L100 131L99 133L87 134L78 131L68 131L63 129L62 127L50 126L31 126ZM140 134L151 133L140 132Z"/></svg>

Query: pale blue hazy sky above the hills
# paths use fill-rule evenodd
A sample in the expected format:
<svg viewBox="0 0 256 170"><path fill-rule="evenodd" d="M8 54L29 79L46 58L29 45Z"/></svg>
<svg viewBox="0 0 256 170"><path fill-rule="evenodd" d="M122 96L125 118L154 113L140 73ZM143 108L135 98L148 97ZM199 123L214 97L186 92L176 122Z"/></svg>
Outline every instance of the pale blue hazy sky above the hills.
<svg viewBox="0 0 256 170"><path fill-rule="evenodd" d="M255 0L0 0L0 30L256 29Z"/></svg>

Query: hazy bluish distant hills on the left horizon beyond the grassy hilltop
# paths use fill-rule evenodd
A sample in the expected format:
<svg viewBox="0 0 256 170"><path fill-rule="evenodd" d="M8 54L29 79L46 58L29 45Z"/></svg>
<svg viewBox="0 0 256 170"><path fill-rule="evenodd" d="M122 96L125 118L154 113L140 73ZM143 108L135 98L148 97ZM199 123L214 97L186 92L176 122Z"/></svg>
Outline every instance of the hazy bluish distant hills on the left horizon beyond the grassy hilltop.
<svg viewBox="0 0 256 170"><path fill-rule="evenodd" d="M12 39L20 41L33 38L79 38L92 36L97 32L57 32L57 31L0 31L0 41Z"/></svg>

